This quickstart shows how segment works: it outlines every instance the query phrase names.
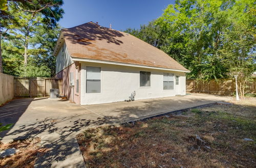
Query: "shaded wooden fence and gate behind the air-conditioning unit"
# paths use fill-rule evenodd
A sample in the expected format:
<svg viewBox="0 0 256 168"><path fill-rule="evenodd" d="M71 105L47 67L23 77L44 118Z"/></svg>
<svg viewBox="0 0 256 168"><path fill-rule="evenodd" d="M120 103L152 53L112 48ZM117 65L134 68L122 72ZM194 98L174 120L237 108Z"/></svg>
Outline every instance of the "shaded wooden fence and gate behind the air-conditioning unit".
<svg viewBox="0 0 256 168"><path fill-rule="evenodd" d="M62 91L62 80L49 77L15 77L14 97L46 97L50 89Z"/></svg>

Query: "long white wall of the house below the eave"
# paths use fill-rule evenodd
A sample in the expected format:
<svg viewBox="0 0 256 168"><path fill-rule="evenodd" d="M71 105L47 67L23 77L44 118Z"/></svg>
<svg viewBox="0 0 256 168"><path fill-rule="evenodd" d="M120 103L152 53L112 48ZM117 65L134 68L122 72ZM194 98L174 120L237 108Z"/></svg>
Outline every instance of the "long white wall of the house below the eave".
<svg viewBox="0 0 256 168"><path fill-rule="evenodd" d="M101 68L101 93L86 93L86 66ZM140 71L151 72L151 87L140 87ZM179 86L174 79L174 90L163 90L163 73L179 75ZM82 105L124 101L133 91L135 100L185 95L185 82L184 72L82 62L80 100Z"/></svg>

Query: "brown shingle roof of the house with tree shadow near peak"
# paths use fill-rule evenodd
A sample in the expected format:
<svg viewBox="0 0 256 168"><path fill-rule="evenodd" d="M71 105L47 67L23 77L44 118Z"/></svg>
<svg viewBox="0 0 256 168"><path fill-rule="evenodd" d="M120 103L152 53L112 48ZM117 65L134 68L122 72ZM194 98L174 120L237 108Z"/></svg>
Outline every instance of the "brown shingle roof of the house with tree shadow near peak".
<svg viewBox="0 0 256 168"><path fill-rule="evenodd" d="M94 22L61 31L72 58L188 71L162 50ZM56 52L55 52L56 53Z"/></svg>

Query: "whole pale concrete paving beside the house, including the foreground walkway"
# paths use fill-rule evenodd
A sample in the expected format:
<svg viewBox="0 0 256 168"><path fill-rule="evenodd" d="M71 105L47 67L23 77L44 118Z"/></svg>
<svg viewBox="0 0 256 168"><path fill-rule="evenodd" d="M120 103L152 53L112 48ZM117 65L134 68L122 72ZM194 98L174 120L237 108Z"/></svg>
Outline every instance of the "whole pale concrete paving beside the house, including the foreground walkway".
<svg viewBox="0 0 256 168"><path fill-rule="evenodd" d="M4 143L12 139L41 137L41 144L50 151L37 160L36 167L84 167L75 138L83 129L139 120L228 99L191 94L82 106L61 99L15 99L0 107L0 123L14 124L11 130L2 132L0 136Z"/></svg>

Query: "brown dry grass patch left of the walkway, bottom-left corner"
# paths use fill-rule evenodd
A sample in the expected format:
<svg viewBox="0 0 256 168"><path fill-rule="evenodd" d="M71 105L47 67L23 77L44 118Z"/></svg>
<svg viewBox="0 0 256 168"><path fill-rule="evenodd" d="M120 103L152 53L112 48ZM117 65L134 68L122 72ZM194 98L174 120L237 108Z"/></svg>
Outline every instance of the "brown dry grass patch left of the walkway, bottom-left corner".
<svg viewBox="0 0 256 168"><path fill-rule="evenodd" d="M12 156L1 159L0 167L34 167L36 157L46 152L46 149L40 148L39 142L40 138L33 138L1 144L0 150L15 148L19 151Z"/></svg>

